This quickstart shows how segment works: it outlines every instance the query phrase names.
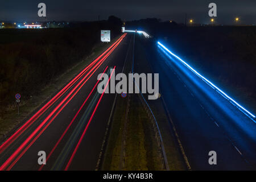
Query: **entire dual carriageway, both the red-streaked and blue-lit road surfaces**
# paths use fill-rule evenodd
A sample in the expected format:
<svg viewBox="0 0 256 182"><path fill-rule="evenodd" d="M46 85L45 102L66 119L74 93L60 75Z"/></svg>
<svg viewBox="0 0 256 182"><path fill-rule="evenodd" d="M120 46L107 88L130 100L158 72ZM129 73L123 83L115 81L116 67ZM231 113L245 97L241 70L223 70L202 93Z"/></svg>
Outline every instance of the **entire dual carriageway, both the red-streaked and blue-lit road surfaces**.
<svg viewBox="0 0 256 182"><path fill-rule="evenodd" d="M111 75L109 68L114 67L115 74L122 72L126 61L133 63L134 72L143 72L147 64L152 73L159 73L164 112L170 113L192 170L256 169L255 119L226 100L155 39L134 35L124 34L118 46L113 44L113 52L110 47L88 65L81 77L79 74L69 82L49 105L0 146L1 170L96 169L115 94L98 94L94 86L100 73ZM148 103L153 105L154 101ZM39 151L46 151L44 166L38 164ZM216 151L216 165L208 163L209 151Z"/></svg>

